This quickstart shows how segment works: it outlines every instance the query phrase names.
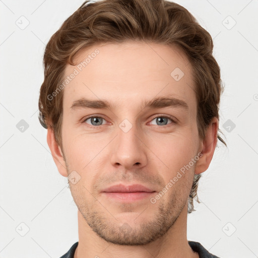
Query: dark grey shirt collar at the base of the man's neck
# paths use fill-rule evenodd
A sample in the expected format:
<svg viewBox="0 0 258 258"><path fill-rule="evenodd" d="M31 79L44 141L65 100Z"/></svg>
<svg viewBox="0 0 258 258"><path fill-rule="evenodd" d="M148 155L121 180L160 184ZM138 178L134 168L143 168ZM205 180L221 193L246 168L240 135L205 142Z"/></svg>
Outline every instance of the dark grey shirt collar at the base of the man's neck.
<svg viewBox="0 0 258 258"><path fill-rule="evenodd" d="M208 250L206 250L199 242L188 241L188 243L193 251L199 253L200 258L219 258L218 256L208 252ZM63 254L60 258L74 258L77 245L78 242L74 243L70 250L66 254Z"/></svg>

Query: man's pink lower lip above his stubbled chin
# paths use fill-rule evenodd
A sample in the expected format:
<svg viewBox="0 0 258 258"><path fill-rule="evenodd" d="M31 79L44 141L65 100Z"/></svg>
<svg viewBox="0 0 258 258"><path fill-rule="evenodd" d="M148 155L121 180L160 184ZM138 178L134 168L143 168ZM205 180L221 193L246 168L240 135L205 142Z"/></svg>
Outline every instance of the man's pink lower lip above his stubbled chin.
<svg viewBox="0 0 258 258"><path fill-rule="evenodd" d="M138 192L103 192L108 198L113 198L122 202L140 201L145 198L150 198L154 192L138 191Z"/></svg>

